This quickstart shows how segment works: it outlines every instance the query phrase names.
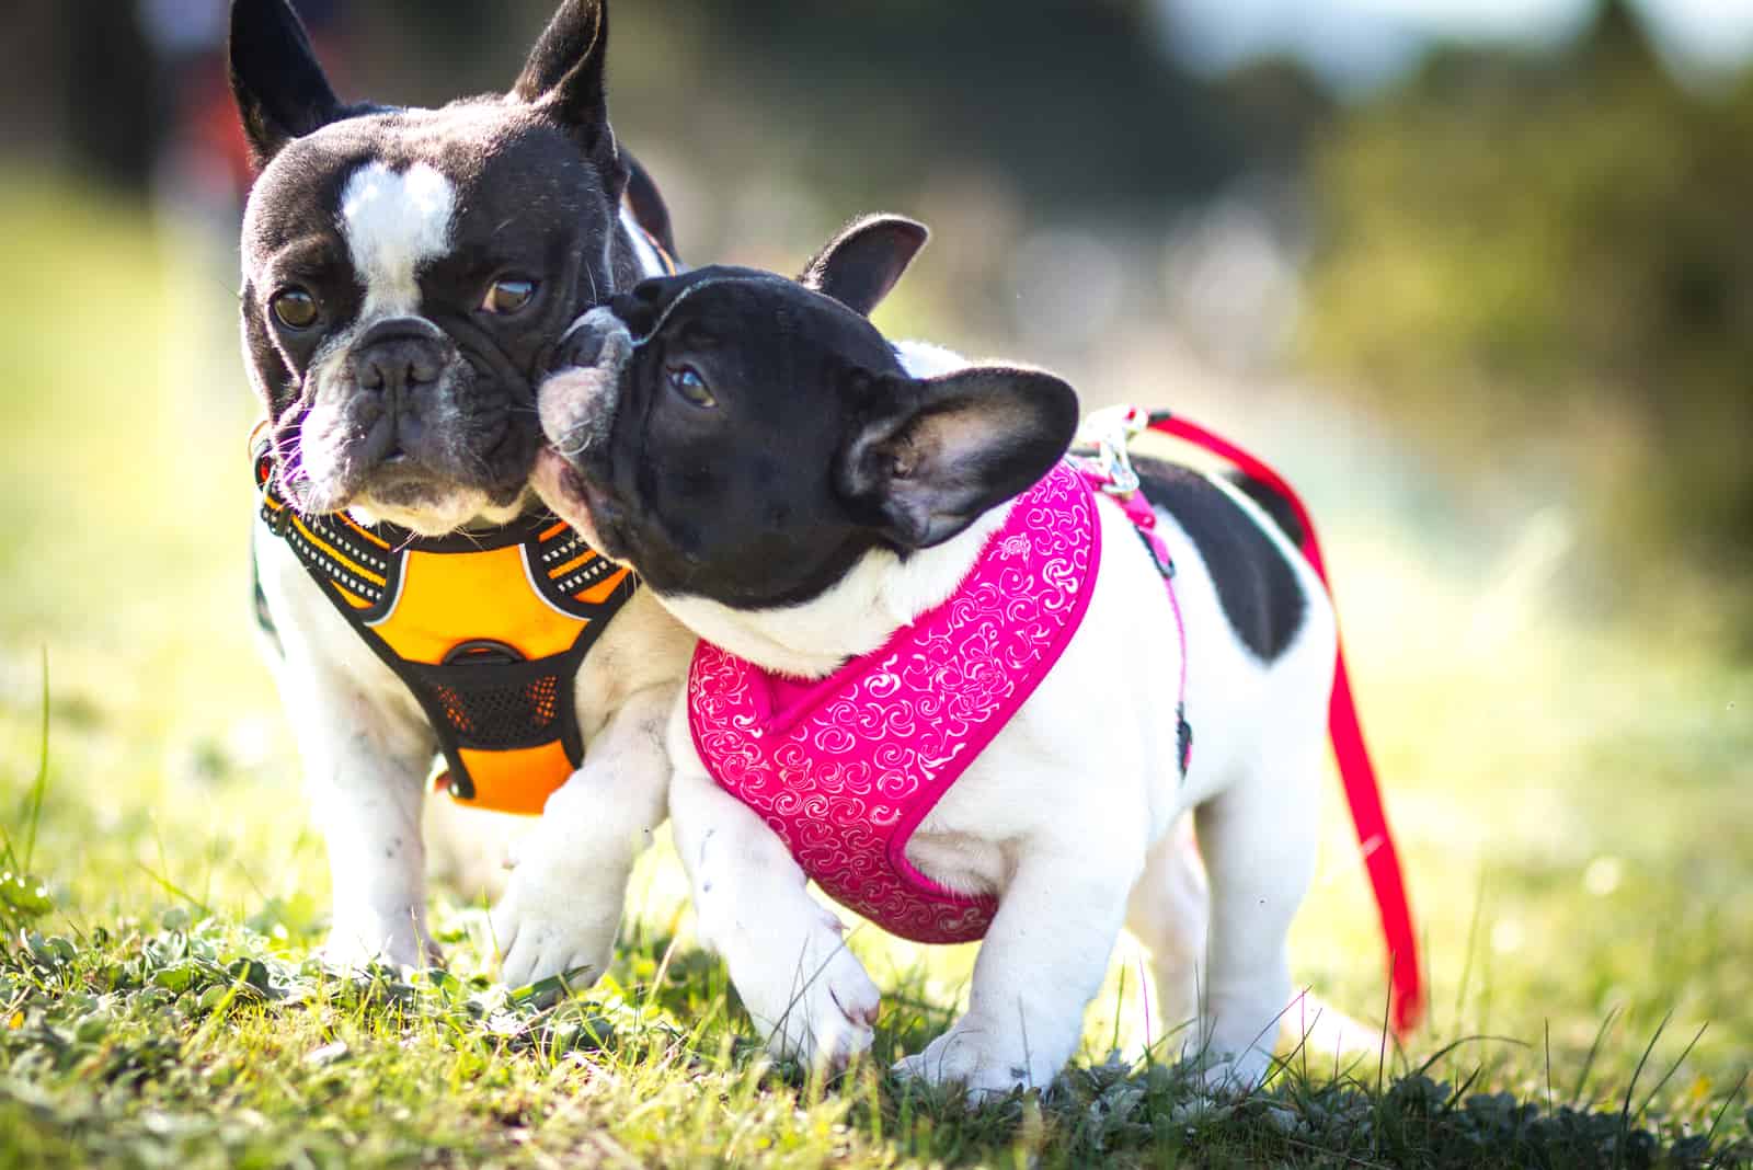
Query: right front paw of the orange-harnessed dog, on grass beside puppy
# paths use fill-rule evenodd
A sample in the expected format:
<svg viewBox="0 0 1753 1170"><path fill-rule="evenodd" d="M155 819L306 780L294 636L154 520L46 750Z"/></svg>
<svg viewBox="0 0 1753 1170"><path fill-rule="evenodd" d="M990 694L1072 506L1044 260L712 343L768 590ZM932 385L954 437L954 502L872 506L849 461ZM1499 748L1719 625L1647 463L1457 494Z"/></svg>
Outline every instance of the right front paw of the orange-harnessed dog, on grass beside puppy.
<svg viewBox="0 0 1753 1170"><path fill-rule="evenodd" d="M578 991L608 970L614 958L621 907L593 909L578 888L556 881L556 874L524 862L493 907L493 941L500 949L500 979L524 988L554 976L566 976Z"/></svg>

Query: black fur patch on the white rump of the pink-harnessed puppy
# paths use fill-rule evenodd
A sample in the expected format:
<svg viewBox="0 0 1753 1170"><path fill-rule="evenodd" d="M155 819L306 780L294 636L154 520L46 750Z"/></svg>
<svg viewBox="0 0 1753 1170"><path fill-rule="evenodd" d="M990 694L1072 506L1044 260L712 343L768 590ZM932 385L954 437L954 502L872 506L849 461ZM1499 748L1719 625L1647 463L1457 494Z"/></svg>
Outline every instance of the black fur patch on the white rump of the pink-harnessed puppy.
<svg viewBox="0 0 1753 1170"><path fill-rule="evenodd" d="M1145 499L1175 517L1204 557L1236 638L1266 662L1281 655L1302 629L1308 597L1278 545L1197 471L1159 459L1134 459L1132 466Z"/></svg>

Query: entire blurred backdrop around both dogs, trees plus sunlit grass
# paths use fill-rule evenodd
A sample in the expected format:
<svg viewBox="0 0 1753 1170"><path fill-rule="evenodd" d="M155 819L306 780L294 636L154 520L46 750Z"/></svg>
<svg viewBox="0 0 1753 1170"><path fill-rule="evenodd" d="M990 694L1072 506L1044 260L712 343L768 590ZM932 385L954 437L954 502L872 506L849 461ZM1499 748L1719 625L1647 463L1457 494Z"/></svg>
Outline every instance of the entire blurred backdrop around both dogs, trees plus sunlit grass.
<svg viewBox="0 0 1753 1170"><path fill-rule="evenodd" d="M505 89L550 9L300 7L344 96L421 105ZM56 839L289 906L321 858L247 638L223 30L0 14L0 774L46 646ZM1707 1074L1753 1051L1753 5L617 0L610 61L684 259L917 215L891 333L1176 406L1306 490L1444 1026L1579 1053L1676 1009ZM1369 1014L1331 816L1299 976Z"/></svg>

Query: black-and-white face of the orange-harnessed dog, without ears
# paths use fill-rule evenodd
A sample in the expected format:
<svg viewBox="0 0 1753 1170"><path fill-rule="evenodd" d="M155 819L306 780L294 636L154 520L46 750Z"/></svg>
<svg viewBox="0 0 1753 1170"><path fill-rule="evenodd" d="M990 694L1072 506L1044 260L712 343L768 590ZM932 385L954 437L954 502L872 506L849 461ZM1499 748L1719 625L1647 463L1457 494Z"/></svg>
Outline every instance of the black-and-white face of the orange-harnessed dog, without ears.
<svg viewBox="0 0 1753 1170"><path fill-rule="evenodd" d="M510 100L296 138L244 222L244 342L280 490L419 532L517 510L535 377L614 287L612 177Z"/></svg>

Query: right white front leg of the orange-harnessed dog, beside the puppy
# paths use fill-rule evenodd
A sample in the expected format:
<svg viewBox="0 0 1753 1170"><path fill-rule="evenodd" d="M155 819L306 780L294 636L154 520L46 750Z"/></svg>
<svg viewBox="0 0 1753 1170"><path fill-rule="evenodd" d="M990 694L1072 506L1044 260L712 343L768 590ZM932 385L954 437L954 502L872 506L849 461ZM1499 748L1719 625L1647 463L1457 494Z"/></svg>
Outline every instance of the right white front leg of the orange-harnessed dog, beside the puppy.
<svg viewBox="0 0 1753 1170"><path fill-rule="evenodd" d="M512 878L493 911L508 986L571 972L589 986L608 970L628 874L664 814L673 697L675 687L659 685L628 699L514 848Z"/></svg>

